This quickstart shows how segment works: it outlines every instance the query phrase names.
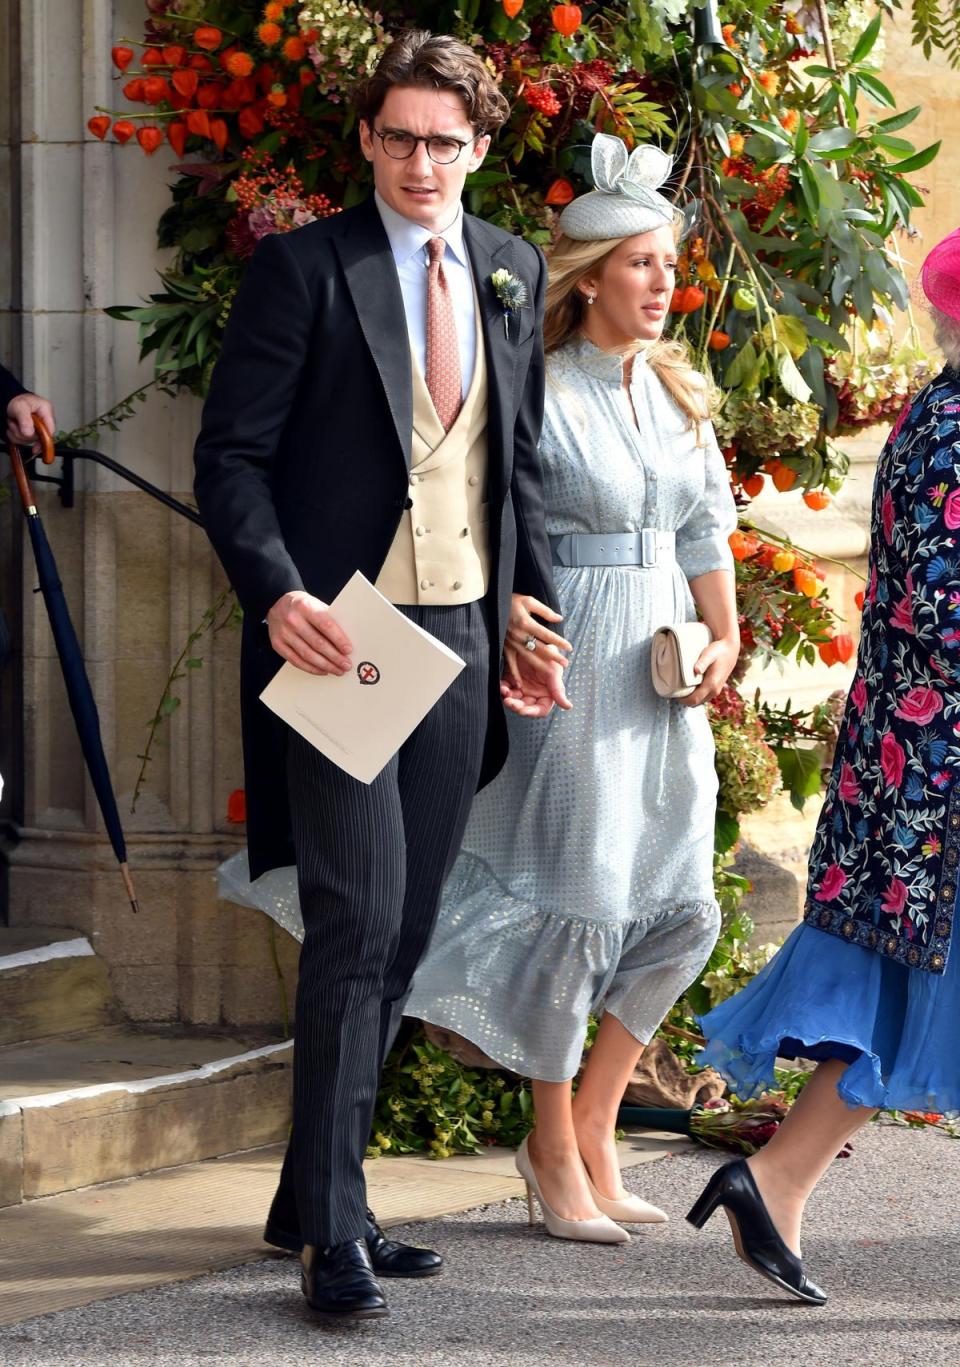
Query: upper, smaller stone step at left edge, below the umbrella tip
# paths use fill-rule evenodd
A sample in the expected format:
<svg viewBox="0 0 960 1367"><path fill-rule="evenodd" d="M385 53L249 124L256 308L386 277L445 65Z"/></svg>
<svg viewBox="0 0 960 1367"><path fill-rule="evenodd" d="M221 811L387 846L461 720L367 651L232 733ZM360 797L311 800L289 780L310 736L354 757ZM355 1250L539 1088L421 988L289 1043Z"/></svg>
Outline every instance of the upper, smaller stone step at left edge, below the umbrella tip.
<svg viewBox="0 0 960 1367"><path fill-rule="evenodd" d="M0 925L0 1046L116 1020L109 972L85 935Z"/></svg>

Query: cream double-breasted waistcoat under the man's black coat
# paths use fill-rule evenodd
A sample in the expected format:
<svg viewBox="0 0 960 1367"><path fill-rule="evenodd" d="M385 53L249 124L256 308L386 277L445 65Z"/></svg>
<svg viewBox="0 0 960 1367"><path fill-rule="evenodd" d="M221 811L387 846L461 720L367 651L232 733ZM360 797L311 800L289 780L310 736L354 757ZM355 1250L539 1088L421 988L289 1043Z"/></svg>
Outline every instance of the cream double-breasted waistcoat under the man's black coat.
<svg viewBox="0 0 960 1367"><path fill-rule="evenodd" d="M413 355L410 366L412 506L403 511L376 586L391 603L475 603L490 582L487 364L479 317L473 379L449 432Z"/></svg>

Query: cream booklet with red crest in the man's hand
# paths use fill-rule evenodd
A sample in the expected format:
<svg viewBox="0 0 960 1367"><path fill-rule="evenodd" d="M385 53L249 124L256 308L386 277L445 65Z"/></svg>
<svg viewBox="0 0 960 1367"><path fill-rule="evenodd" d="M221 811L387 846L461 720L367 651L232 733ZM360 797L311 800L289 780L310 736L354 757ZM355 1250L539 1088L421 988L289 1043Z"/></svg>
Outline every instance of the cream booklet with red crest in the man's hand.
<svg viewBox="0 0 960 1367"><path fill-rule="evenodd" d="M260 699L328 760L372 783L465 662L360 570L330 611L350 638L353 668L321 675L284 663Z"/></svg>

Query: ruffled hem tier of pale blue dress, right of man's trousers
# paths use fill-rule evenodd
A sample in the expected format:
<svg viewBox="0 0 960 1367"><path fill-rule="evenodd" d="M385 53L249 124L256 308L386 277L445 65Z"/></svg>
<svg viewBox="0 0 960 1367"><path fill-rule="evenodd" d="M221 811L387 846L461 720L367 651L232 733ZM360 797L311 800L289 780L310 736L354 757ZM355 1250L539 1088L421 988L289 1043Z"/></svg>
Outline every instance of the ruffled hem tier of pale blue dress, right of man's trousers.
<svg viewBox="0 0 960 1367"><path fill-rule="evenodd" d="M502 1068L566 1081L591 1012L609 1007L637 1040L652 1036L703 966L718 919L715 902L697 899L621 923L544 910L462 853L403 1009Z"/></svg>

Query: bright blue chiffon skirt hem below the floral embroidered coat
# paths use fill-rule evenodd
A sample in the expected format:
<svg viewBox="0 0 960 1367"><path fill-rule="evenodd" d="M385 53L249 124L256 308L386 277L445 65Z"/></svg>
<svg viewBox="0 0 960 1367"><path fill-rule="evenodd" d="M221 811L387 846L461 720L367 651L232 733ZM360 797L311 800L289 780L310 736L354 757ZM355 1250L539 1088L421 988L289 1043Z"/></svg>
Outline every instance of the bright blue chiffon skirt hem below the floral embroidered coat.
<svg viewBox="0 0 960 1367"><path fill-rule="evenodd" d="M841 1058L849 1106L960 1114L960 951L944 973L797 925L766 968L702 1020L715 1068L740 1098L775 1087L774 1059Z"/></svg>

